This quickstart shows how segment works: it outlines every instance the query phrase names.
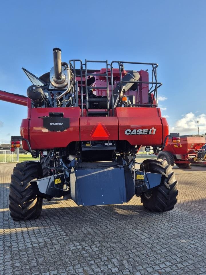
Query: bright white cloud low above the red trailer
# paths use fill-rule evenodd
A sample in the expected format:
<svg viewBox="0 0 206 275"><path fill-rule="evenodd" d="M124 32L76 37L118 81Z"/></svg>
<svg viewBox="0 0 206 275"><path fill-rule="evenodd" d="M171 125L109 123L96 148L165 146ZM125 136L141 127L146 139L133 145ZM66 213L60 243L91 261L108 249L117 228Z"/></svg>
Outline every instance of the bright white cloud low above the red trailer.
<svg viewBox="0 0 206 275"><path fill-rule="evenodd" d="M206 114L197 116L193 113L183 115L181 119L176 121L175 127L172 127L171 131L180 132L181 134L197 134L197 121L199 121L199 133L206 133Z"/></svg>

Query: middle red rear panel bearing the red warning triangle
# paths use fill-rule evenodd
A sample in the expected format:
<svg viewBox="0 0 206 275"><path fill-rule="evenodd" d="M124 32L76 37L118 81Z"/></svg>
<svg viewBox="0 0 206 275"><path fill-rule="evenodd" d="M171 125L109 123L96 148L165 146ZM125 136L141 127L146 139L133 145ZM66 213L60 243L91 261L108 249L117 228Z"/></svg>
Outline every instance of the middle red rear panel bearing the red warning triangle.
<svg viewBox="0 0 206 275"><path fill-rule="evenodd" d="M97 140L97 135L92 137L92 132L99 123L106 127L108 136L103 133L98 140L118 140L117 117L80 117L80 140Z"/></svg>

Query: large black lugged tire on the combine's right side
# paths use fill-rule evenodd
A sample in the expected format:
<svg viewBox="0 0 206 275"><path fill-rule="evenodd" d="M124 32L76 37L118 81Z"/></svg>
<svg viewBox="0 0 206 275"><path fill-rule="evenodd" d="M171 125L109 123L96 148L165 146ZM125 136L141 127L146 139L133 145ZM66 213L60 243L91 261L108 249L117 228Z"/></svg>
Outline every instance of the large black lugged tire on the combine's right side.
<svg viewBox="0 0 206 275"><path fill-rule="evenodd" d="M165 175L165 182L162 186L140 195L141 202L149 211L165 212L172 210L177 203L177 180L172 166L166 160L148 159L144 160L140 170Z"/></svg>

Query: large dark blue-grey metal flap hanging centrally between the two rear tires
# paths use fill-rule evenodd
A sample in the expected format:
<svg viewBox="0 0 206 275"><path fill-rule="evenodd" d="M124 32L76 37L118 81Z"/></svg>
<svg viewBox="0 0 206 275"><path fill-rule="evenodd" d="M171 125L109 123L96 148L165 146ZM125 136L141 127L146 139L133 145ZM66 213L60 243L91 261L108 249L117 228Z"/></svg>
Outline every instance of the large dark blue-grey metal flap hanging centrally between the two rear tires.
<svg viewBox="0 0 206 275"><path fill-rule="evenodd" d="M126 165L86 163L71 172L71 197L77 205L122 204L134 196L134 179Z"/></svg>

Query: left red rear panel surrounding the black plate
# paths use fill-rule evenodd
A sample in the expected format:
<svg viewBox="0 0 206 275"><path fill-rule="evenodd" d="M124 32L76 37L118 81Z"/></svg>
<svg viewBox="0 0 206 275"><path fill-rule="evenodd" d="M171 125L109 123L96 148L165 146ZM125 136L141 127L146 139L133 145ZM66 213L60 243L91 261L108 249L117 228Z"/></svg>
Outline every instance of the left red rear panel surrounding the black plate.
<svg viewBox="0 0 206 275"><path fill-rule="evenodd" d="M70 118L70 127L62 132L51 132L43 127L43 119L49 112L63 112ZM32 149L66 147L72 141L80 140L80 108L32 108L29 120L29 141Z"/></svg>

